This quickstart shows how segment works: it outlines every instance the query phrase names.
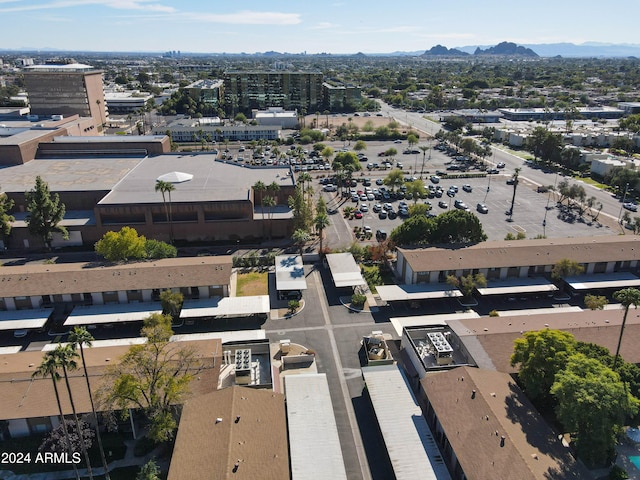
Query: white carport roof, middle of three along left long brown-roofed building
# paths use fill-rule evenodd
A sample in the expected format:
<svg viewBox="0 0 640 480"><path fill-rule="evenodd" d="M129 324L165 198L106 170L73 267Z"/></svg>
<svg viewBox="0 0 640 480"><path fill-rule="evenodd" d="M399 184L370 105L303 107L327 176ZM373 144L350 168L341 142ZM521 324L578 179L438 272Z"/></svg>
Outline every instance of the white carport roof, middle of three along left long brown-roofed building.
<svg viewBox="0 0 640 480"><path fill-rule="evenodd" d="M162 307L159 302L77 306L65 320L64 326L141 322L153 313L162 313Z"/></svg>

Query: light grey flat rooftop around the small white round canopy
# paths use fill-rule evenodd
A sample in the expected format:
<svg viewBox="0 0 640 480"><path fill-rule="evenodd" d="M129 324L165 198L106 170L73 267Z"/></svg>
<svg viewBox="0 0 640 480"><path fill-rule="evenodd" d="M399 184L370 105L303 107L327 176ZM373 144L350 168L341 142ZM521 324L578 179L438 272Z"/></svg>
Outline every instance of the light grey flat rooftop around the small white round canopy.
<svg viewBox="0 0 640 480"><path fill-rule="evenodd" d="M168 154L142 160L99 204L161 202L160 194L155 191L156 179L174 171L188 173L193 178L174 184L172 203L248 200L251 187L258 180L266 185L277 182L281 187L294 184L287 176L289 168L285 167L250 168L216 161L213 154Z"/></svg>

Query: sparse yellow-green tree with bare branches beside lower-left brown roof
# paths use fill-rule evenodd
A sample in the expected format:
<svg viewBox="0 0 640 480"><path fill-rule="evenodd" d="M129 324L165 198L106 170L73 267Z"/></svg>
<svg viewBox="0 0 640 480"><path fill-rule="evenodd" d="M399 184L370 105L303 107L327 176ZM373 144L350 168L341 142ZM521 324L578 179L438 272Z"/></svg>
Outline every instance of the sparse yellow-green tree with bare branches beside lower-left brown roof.
<svg viewBox="0 0 640 480"><path fill-rule="evenodd" d="M132 406L140 409L150 421L148 437L163 442L173 438L176 406L188 397L189 384L203 365L193 347L169 341L169 315L153 314L144 323L141 334L147 343L131 346L106 369L99 399L125 417Z"/></svg>

